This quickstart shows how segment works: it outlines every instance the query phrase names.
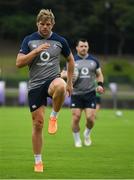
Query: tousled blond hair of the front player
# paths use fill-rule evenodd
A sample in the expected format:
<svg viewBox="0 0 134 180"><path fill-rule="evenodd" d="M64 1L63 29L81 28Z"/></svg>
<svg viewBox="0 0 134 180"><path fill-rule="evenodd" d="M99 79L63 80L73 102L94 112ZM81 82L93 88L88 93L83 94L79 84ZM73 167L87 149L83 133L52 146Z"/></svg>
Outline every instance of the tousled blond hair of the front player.
<svg viewBox="0 0 134 180"><path fill-rule="evenodd" d="M41 9L37 15L37 22L50 20L52 24L55 24L55 17L51 9Z"/></svg>

